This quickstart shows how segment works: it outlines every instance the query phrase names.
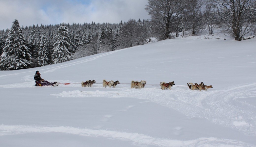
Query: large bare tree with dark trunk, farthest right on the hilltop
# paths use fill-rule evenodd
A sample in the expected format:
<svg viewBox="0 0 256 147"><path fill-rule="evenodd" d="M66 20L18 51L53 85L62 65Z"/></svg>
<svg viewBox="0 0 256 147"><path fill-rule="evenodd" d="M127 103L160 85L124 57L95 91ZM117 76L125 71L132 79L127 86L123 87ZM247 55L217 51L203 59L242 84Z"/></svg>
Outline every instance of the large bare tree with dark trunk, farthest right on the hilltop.
<svg viewBox="0 0 256 147"><path fill-rule="evenodd" d="M226 16L223 27L235 40L241 41L250 32L252 25L247 20L247 10L253 9L255 0L210 0L212 6Z"/></svg>

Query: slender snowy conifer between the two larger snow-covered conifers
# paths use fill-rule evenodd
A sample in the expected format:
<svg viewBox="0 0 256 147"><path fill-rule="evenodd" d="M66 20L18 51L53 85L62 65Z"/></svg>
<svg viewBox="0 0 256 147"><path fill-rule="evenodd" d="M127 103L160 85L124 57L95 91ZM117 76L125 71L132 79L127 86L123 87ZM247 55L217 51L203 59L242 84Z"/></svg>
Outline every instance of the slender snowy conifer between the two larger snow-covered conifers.
<svg viewBox="0 0 256 147"><path fill-rule="evenodd" d="M41 35L39 50L38 50L38 64L40 66L48 65L49 61L49 49L48 49L49 40L45 35Z"/></svg>

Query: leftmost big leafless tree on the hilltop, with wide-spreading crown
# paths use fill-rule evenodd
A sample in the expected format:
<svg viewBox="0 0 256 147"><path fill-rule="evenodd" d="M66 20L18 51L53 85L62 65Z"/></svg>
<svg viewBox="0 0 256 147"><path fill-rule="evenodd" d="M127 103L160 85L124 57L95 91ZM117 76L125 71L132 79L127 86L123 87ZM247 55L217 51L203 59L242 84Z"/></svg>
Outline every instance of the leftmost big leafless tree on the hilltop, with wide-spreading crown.
<svg viewBox="0 0 256 147"><path fill-rule="evenodd" d="M170 38L170 24L178 17L185 5L184 0L148 0L146 10L154 22L159 40Z"/></svg>

